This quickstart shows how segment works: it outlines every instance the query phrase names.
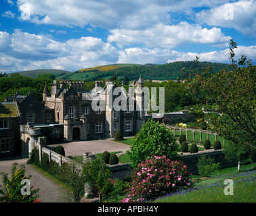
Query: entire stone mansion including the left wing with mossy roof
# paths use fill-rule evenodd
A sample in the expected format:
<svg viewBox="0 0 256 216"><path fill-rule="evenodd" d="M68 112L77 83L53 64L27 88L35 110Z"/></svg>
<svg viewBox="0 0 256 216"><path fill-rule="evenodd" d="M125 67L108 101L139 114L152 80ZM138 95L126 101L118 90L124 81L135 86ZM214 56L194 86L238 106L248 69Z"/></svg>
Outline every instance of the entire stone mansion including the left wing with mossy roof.
<svg viewBox="0 0 256 216"><path fill-rule="evenodd" d="M47 137L48 143L55 143L111 138L117 130L123 136L135 135L146 118L141 77L136 86L134 94L126 92L123 85L119 87L108 81L95 81L93 90L85 90L84 82L58 84L54 80L51 92L45 84L43 102L32 93L24 96L17 92L6 97L0 103L0 157L14 153L28 157L40 136ZM115 88L119 88L119 95L112 94ZM112 109L114 99L120 94L125 109ZM95 101L101 104L100 108L93 109Z"/></svg>

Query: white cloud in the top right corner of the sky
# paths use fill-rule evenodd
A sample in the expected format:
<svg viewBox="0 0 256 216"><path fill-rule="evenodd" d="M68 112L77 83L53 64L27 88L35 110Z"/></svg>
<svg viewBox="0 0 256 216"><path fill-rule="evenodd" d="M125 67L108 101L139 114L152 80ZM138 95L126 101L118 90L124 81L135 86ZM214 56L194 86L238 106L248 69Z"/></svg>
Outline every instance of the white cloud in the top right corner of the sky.
<svg viewBox="0 0 256 216"><path fill-rule="evenodd" d="M256 36L256 2L254 0L226 3L196 14L196 21L209 26L235 28Z"/></svg>

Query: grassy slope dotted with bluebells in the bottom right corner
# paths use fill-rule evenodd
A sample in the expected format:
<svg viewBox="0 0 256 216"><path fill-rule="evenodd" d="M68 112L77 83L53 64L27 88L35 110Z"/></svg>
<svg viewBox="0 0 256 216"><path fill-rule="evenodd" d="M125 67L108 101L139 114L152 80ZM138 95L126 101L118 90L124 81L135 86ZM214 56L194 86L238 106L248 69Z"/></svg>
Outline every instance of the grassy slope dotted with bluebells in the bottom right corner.
<svg viewBox="0 0 256 216"><path fill-rule="evenodd" d="M233 195L224 194L226 186L230 186L224 184L227 179L233 182ZM168 194L154 202L256 202L256 169L208 178L195 183L190 190Z"/></svg>

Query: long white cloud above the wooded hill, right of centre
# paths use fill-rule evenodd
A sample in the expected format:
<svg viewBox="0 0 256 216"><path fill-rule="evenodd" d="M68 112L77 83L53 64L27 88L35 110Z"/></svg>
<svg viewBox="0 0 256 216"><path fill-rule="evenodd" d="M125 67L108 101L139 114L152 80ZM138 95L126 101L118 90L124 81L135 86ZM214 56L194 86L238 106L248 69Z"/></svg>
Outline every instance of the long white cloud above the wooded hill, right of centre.
<svg viewBox="0 0 256 216"><path fill-rule="evenodd" d="M202 28L201 26L180 22L177 25L167 26L157 24L146 30L110 30L108 42L119 46L129 44L144 44L146 47L162 47L171 49L188 43L207 45L228 45L230 36L225 36L220 28Z"/></svg>

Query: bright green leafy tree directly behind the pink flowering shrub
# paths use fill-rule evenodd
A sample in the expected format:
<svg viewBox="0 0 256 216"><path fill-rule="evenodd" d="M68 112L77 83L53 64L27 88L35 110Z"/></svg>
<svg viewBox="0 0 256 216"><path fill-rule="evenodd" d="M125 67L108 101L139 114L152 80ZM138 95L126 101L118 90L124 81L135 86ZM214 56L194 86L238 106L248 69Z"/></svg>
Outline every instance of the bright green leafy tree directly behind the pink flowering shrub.
<svg viewBox="0 0 256 216"><path fill-rule="evenodd" d="M166 155L171 160L177 159L177 144L173 138L171 129L158 121L149 119L143 124L137 138L133 140L130 151L127 151L131 159L131 166L137 167L141 161L150 159L152 155Z"/></svg>

